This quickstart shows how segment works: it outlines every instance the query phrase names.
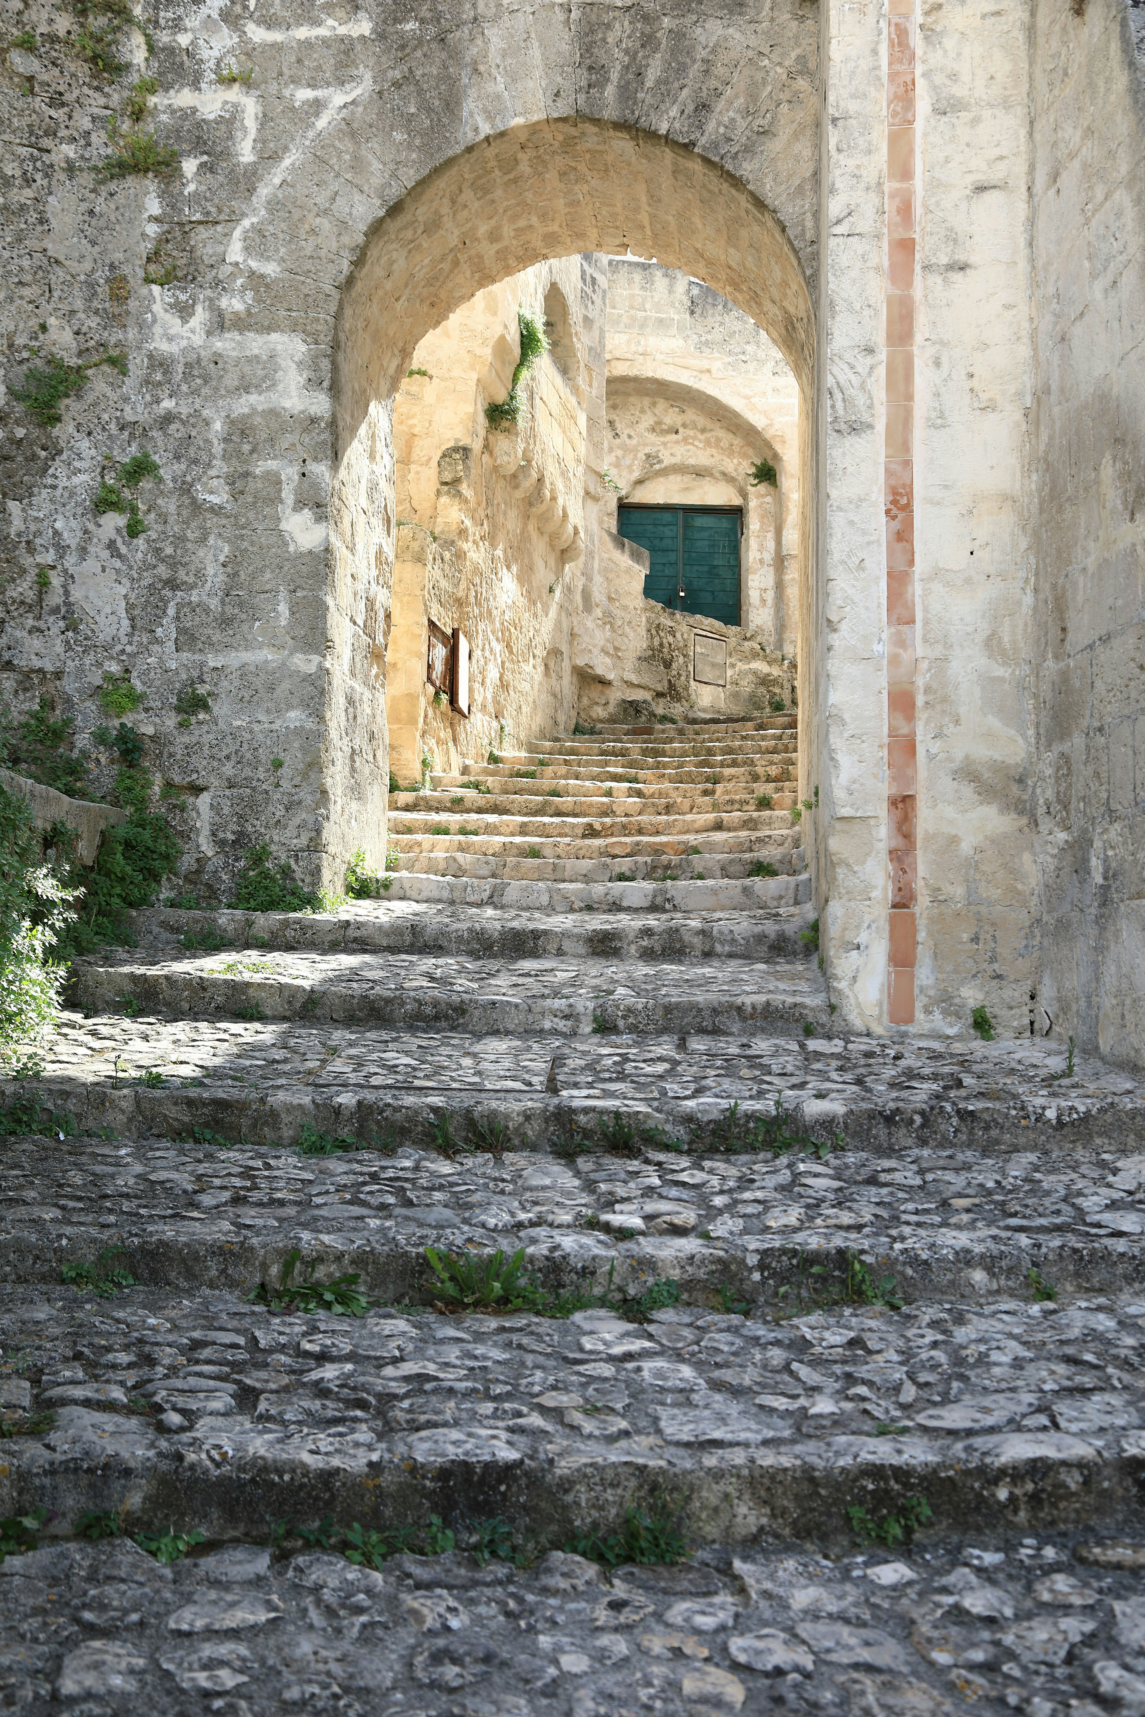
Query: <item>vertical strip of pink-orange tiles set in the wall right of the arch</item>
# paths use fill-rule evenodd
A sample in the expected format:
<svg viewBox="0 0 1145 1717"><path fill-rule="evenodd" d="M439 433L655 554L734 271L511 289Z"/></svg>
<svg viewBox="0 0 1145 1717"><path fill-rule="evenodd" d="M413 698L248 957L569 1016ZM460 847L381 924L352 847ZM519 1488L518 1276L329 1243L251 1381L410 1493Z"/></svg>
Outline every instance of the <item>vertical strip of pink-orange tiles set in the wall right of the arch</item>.
<svg viewBox="0 0 1145 1717"><path fill-rule="evenodd" d="M886 680L891 924L888 1020L915 1023L915 0L888 17Z"/></svg>

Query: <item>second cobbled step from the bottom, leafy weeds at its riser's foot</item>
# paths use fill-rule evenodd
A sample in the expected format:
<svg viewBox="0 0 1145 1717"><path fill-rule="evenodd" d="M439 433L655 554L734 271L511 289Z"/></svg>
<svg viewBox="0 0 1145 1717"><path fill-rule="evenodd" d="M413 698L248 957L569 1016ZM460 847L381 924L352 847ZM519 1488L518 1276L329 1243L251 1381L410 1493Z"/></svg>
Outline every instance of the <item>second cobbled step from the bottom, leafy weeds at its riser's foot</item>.
<svg viewBox="0 0 1145 1717"><path fill-rule="evenodd" d="M472 1135L470 1145L482 1140ZM0 1142L0 1272L53 1281L113 1231L146 1281L245 1281L288 1247L354 1262L379 1291L415 1291L427 1243L527 1248L563 1288L669 1277L687 1298L728 1283L774 1301L800 1255L846 1250L912 1298L1063 1288L1145 1276L1145 1156L960 1149L628 1159L537 1152L457 1159L410 1147L307 1157L282 1147L96 1140ZM103 1236L108 1238L106 1235ZM342 1265L340 1265L342 1267ZM809 1279L810 1286L810 1279Z"/></svg>

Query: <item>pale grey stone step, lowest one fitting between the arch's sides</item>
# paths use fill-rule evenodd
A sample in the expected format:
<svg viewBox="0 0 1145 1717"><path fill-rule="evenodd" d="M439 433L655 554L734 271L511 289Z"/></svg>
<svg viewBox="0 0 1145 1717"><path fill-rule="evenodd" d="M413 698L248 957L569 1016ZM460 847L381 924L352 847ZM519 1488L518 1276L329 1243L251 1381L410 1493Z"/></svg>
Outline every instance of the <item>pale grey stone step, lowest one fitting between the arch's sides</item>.
<svg viewBox="0 0 1145 1717"><path fill-rule="evenodd" d="M645 883L525 883L494 874L429 874L436 864L445 871L455 860L431 855L414 860L417 871L391 871L383 888L388 900L424 905L508 907L513 912L669 912L755 913L764 907L803 907L810 901L809 876L735 877L712 881ZM493 871L505 860L488 858ZM400 864L400 858L398 858ZM472 860L476 865L477 860ZM778 867L776 867L778 869ZM386 886L388 884L388 886Z"/></svg>

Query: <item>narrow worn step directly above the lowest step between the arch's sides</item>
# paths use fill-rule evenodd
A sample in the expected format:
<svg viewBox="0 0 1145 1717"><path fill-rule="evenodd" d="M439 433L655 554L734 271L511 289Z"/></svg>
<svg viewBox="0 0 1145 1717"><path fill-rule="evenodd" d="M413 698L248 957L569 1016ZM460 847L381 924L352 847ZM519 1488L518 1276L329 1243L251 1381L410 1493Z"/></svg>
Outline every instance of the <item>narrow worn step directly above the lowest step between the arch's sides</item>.
<svg viewBox="0 0 1145 1717"><path fill-rule="evenodd" d="M390 850L391 874L431 872L436 876L498 876L525 883L647 883L664 881L668 874L680 881L714 881L743 879L752 865L767 864L778 876L798 874L803 867L803 848L767 845L767 836L745 841L742 852L723 852L706 848L694 853L690 848L671 853L652 853L645 857L635 841L637 855L594 852L589 841L539 841L530 843L512 836L496 840L467 838L446 834L395 834ZM668 845L668 843L661 843ZM683 846L683 843L678 843ZM501 846L498 852L496 848ZM561 846L572 846L579 857L563 857ZM546 848L556 848L549 857ZM539 858L529 853L539 852ZM587 857L592 853L592 857ZM434 862L424 858L433 855ZM582 857L584 855L584 857ZM448 862L446 862L448 860Z"/></svg>

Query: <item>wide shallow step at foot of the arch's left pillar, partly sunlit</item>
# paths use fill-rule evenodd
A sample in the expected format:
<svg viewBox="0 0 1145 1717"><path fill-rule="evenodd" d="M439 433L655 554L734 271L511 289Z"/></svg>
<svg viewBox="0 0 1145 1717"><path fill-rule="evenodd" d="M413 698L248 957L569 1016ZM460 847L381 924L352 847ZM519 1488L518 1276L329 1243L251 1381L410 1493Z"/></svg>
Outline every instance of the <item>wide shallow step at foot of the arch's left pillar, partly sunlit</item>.
<svg viewBox="0 0 1145 1717"><path fill-rule="evenodd" d="M620 960L769 960L803 953L800 932L810 907L755 907L743 912L669 912L668 888L652 886L657 910L632 907L604 919L580 917L575 900L554 912L515 910L498 883L438 877L385 877L381 900L354 900L331 913L185 912L153 908L127 913L127 929L146 948L306 948L390 950L393 953L472 955L482 960L587 955ZM433 901L403 900L426 889ZM592 889L566 889L592 903ZM647 889L645 889L647 893ZM673 889L675 893L675 889ZM458 896L457 901L453 896ZM498 896L500 903L494 903ZM532 891L530 891L532 898Z"/></svg>

